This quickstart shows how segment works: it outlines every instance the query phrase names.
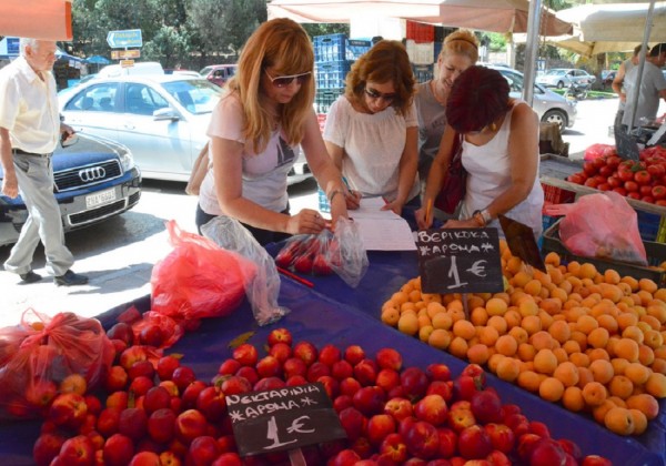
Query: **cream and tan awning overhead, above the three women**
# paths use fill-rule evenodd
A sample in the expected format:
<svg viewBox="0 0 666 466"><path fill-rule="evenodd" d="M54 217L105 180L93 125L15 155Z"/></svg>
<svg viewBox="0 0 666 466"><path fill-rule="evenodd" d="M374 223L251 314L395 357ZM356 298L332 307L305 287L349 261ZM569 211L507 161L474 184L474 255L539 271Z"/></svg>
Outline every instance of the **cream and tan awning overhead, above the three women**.
<svg viewBox="0 0 666 466"><path fill-rule="evenodd" d="M360 16L414 21L493 32L526 32L528 0L273 0L269 19L297 22L350 22ZM572 33L572 26L549 11L541 18L546 36Z"/></svg>

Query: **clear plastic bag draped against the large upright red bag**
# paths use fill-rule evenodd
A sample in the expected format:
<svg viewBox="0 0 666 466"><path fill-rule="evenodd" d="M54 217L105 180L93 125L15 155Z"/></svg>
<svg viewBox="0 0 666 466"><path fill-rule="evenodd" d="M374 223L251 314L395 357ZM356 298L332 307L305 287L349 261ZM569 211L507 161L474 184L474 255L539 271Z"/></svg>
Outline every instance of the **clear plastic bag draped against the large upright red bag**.
<svg viewBox="0 0 666 466"><path fill-rule="evenodd" d="M271 324L289 313L278 304L280 276L273 259L238 220L216 216L201 226L201 232L219 246L234 251L254 264L245 277L245 293L259 325ZM243 269L245 271L245 269Z"/></svg>

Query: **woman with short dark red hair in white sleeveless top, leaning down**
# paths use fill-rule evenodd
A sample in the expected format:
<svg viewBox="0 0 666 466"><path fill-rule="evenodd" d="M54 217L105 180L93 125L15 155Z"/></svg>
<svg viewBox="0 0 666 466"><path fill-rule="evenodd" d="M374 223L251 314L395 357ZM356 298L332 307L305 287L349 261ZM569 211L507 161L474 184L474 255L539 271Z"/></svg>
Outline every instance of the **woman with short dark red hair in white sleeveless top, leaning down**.
<svg viewBox="0 0 666 466"><path fill-rule="evenodd" d="M542 233L544 193L538 180L538 118L525 102L508 97L506 79L495 70L471 67L453 84L446 104L448 126L430 172L424 205L442 188L454 138L463 134L466 193L460 220L444 227L494 226L504 214ZM423 209L416 219L430 227ZM427 219L432 222L432 219Z"/></svg>

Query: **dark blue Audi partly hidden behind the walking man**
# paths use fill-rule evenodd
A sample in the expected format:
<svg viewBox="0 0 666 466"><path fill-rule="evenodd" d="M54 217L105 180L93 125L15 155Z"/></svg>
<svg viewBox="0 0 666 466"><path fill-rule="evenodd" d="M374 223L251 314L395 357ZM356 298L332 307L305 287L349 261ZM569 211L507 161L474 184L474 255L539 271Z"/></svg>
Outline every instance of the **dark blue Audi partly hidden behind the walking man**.
<svg viewBox="0 0 666 466"><path fill-rule="evenodd" d="M64 146L58 146L51 161L53 194L65 232L127 212L141 197L141 172L121 144L77 134ZM3 178L0 168L0 183ZM0 195L0 246L17 242L27 219L20 195Z"/></svg>

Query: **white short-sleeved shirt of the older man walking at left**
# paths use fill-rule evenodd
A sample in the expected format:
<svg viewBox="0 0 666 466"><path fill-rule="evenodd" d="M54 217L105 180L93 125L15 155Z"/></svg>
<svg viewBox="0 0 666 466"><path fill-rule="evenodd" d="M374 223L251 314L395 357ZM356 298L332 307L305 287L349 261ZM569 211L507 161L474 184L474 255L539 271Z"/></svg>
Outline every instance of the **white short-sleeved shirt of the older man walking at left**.
<svg viewBox="0 0 666 466"><path fill-rule="evenodd" d="M50 71L42 75L23 57L0 70L0 126L12 148L39 154L53 152L60 136L56 79Z"/></svg>

